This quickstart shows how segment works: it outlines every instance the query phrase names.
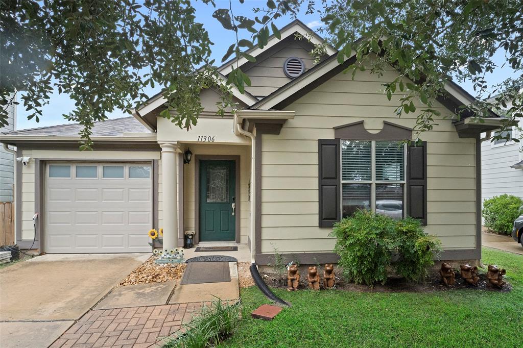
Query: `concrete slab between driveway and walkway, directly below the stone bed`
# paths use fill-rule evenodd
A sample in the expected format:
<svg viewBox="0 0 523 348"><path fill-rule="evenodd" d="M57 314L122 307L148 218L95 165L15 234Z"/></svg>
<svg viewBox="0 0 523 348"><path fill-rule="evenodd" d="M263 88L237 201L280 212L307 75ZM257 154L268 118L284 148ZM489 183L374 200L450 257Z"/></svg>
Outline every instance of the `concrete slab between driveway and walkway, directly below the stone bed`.
<svg viewBox="0 0 523 348"><path fill-rule="evenodd" d="M165 305L176 281L115 287L94 309Z"/></svg>

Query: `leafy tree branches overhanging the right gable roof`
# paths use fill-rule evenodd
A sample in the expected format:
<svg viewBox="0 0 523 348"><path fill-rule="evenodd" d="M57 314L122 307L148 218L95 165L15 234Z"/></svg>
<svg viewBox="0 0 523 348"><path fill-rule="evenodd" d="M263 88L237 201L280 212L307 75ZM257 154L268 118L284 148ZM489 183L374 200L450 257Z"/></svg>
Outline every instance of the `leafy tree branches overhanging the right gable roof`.
<svg viewBox="0 0 523 348"><path fill-rule="evenodd" d="M270 30L279 36L274 20L289 12L295 15L303 4L303 1L268 0L266 7L255 9L260 15L254 20L233 17L232 8L220 9L220 22L225 29L251 31L252 42L261 48ZM316 8L319 6L321 8ZM488 110L501 107L507 115L504 131L523 117L523 6L520 0L334 0L327 5L322 0L308 1L306 11L314 10L322 13L324 26L319 30L339 50L338 62L356 56L345 73L354 76L356 71L370 68L371 73L382 74L385 64L392 64L399 71L399 77L385 84L385 96L390 100L396 90L403 92L396 109L399 117L416 111L414 99L425 105L418 110L416 129L419 132L433 128L434 115L439 116L433 108L434 101L444 94L445 83L451 78L458 82L472 80L477 98L457 112L457 118L467 109L481 117L488 115ZM239 22L237 26L235 21ZM261 28L254 29L256 24ZM240 45L241 41L238 47ZM498 50L505 52L506 64L513 69L514 76L500 84L489 84L485 74L494 71L493 55ZM315 51L323 52L321 47ZM231 46L224 59L233 52ZM242 54L236 49L236 55ZM370 54L379 58L368 67L365 64L369 63ZM239 68L231 74L236 72L241 74ZM403 77L412 82L405 84ZM230 80L242 82L242 79ZM501 134L497 133L493 139L502 138Z"/></svg>

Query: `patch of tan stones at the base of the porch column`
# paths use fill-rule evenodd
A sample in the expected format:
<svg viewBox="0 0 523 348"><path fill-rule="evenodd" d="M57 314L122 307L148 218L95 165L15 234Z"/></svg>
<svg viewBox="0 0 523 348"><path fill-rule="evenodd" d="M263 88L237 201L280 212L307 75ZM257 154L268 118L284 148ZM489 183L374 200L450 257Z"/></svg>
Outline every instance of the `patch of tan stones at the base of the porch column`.
<svg viewBox="0 0 523 348"><path fill-rule="evenodd" d="M156 264L156 256L151 256L147 261L142 263L137 269L131 272L126 279L120 282L120 286L147 284L147 283L164 283L178 280L184 274L186 264Z"/></svg>

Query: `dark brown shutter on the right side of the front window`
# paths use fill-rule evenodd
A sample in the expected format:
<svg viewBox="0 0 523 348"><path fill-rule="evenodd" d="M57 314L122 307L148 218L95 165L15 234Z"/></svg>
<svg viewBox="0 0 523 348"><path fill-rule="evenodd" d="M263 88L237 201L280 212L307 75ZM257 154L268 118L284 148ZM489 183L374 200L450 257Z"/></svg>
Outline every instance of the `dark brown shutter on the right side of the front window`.
<svg viewBox="0 0 523 348"><path fill-rule="evenodd" d="M427 142L407 147L406 213L427 225Z"/></svg>

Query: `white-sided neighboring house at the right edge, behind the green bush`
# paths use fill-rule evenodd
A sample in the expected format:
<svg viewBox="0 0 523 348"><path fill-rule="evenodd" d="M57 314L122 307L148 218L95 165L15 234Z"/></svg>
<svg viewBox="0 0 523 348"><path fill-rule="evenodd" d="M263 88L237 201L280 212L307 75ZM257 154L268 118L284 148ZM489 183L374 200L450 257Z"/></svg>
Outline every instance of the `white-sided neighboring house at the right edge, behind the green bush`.
<svg viewBox="0 0 523 348"><path fill-rule="evenodd" d="M510 106L508 106L510 107ZM502 135L510 134L510 138L520 139L519 126L512 126ZM499 134L499 131L493 132ZM486 134L482 134L486 137ZM490 199L500 194L512 194L523 198L523 143L506 141L505 139L494 142L486 140L481 144L481 186L482 200Z"/></svg>

